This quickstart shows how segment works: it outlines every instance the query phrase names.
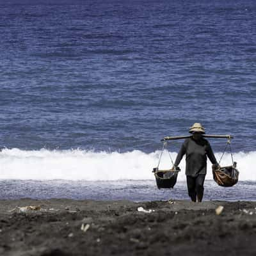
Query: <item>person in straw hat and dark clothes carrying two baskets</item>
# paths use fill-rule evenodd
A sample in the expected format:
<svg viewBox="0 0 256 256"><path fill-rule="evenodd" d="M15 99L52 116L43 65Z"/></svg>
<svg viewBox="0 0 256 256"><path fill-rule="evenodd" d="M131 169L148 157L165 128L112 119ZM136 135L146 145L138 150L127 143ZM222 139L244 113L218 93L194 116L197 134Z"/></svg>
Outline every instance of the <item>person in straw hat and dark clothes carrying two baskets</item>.
<svg viewBox="0 0 256 256"><path fill-rule="evenodd" d="M188 195L193 202L202 202L204 196L204 180L206 175L207 157L212 164L218 166L210 143L202 137L205 133L200 123L193 124L189 132L192 136L184 141L176 157L174 168L179 166L182 157L186 154L186 177Z"/></svg>

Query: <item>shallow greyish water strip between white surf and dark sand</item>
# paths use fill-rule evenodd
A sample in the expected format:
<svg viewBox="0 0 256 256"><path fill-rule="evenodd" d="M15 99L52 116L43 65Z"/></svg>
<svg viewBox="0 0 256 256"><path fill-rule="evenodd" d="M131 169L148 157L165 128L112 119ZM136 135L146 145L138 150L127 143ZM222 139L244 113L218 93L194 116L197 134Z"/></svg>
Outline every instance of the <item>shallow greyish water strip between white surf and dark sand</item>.
<svg viewBox="0 0 256 256"><path fill-rule="evenodd" d="M255 201L256 182L238 182L230 188L218 186L213 180L204 184L204 200ZM132 200L146 202L155 200L189 200L186 181L177 182L173 189L157 189L155 180L122 180L118 182L10 180L1 182L0 200L31 198L50 200L54 198L72 200Z"/></svg>

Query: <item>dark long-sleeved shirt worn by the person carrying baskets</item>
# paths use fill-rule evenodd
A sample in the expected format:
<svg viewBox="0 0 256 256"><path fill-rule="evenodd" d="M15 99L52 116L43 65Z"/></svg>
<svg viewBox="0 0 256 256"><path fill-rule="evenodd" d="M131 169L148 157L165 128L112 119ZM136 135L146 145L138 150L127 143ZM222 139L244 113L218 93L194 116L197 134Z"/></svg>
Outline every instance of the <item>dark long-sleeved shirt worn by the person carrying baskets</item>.
<svg viewBox="0 0 256 256"><path fill-rule="evenodd" d="M192 137L186 139L180 148L174 163L175 166L179 165L184 154L186 154L186 175L191 177L206 174L207 157L209 157L212 164L217 164L211 145L204 138L199 140L194 140Z"/></svg>

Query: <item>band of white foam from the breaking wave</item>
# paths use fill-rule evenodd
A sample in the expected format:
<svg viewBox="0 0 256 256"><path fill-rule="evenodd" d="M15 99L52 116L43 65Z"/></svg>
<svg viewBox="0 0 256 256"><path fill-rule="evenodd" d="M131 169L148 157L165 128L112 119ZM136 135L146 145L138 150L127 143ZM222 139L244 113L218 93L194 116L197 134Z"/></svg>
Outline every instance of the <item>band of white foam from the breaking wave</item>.
<svg viewBox="0 0 256 256"><path fill-rule="evenodd" d="M3 149L0 152L0 179L32 180L148 180L154 179L152 168L157 166L159 151L146 154L132 152L93 152L86 150L20 150ZM177 153L171 153L173 159ZM220 159L221 153L216 153ZM240 180L256 180L253 168L256 152L234 154ZM231 157L225 154L221 165L230 165ZM172 163L164 152L160 168L171 168ZM180 163L179 180L185 180L185 161ZM208 160L206 179L212 179L211 163Z"/></svg>

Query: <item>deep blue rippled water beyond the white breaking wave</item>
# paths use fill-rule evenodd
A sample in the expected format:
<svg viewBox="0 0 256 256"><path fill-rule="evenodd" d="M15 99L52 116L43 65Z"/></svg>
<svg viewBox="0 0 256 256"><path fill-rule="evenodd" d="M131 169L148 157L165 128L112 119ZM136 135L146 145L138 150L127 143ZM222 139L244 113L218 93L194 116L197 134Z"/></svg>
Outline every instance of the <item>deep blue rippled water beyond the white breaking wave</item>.
<svg viewBox="0 0 256 256"><path fill-rule="evenodd" d="M12 0L0 35L1 147L256 150L255 1Z"/></svg>

